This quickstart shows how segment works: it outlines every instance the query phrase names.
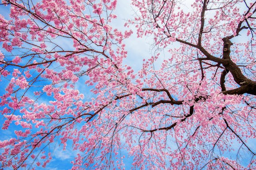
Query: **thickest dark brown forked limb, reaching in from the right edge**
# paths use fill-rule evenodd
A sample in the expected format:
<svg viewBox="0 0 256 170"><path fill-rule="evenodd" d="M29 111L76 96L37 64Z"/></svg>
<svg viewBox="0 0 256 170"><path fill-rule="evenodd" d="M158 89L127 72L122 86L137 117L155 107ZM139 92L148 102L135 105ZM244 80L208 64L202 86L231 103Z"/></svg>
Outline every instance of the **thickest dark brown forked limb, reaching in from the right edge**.
<svg viewBox="0 0 256 170"><path fill-rule="evenodd" d="M252 6L254 4L252 4ZM248 12L251 10L252 6L248 9ZM248 27L246 27L246 26L241 26L242 23L246 19L244 21L241 21L241 22L238 23L237 30L236 30L236 35L227 36L227 37L224 37L222 39L222 41L224 42L223 43L223 58L220 59L218 57L215 57L215 56L211 55L201 45L201 40L202 40L202 35L203 35L203 27L204 27L204 15L205 15L206 10L207 10L207 0L204 0L202 11L201 11L201 18L200 18L201 25L200 25L200 30L199 30L198 44L195 45L195 44L189 43L187 41L183 41L183 40L178 39L178 38L176 38L176 41L199 49L206 56L206 58L200 58L200 62L203 61L203 60L210 60L210 61L216 62L218 64L222 64L226 68L226 70L229 70L231 72L231 74L233 75L234 81L236 81L236 83L238 85L244 85L244 87L242 87L242 88L237 88L237 89L226 91L226 87L224 85L226 74L224 74L224 72L222 72L221 83L220 84L221 84L222 91L223 91L224 94L244 94L244 93L248 93L248 94L256 95L256 81L252 81L252 80L246 78L245 75L242 74L240 68L235 63L233 63L233 61L230 58L230 46L233 45L233 43L230 41L230 39L237 36L241 30L248 29ZM253 12L255 12L255 10ZM157 25L157 27L161 28L159 25ZM168 36L168 37L171 37L171 36ZM200 65L200 67L201 67L201 71L202 71L202 66ZM202 79L203 79L203 76L204 75L202 74Z"/></svg>

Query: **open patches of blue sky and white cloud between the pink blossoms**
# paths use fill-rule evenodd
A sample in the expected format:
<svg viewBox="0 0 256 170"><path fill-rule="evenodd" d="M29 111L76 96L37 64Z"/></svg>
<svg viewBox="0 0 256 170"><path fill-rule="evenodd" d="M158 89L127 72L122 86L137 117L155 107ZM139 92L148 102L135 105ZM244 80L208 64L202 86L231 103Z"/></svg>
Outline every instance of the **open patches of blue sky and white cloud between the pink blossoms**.
<svg viewBox="0 0 256 170"><path fill-rule="evenodd" d="M124 23L126 19L131 18L131 16L134 14L134 10L130 6L131 0L118 0L117 4L117 10L113 13L118 16L116 20L113 21L112 26L114 28L118 28L119 30L127 30L128 28L124 28ZM7 7L0 6L0 14L6 16ZM132 68L137 72L143 63L143 59L148 59L151 57L152 53L154 53L154 49L152 49L151 44L153 44L152 37L145 37L145 38L137 38L135 29L133 27L130 27L130 29L134 30L134 34L128 38L127 40L124 40L124 43L126 44L126 49L128 51L128 57L124 60L124 64L127 63L128 65L132 66ZM64 41L63 41L64 42ZM68 46L68 41L64 42L66 46ZM1 46L0 46L1 48ZM155 68L159 68L162 60L165 59L165 52L163 51L161 54L161 58L158 59L158 62L155 63ZM8 81L0 81L0 87L6 86ZM90 100L90 97L93 97L94 95L91 94L89 91L89 87L84 88L84 80L80 80L78 84L76 84L76 88L80 89L81 92L87 95L87 100ZM83 88L82 88L83 87ZM0 96L3 94L4 90L3 88L0 89ZM47 102L49 100L49 97L45 96L44 100L41 100L40 102ZM0 119L0 123L3 122L3 119ZM15 126L17 127L17 126ZM9 139L13 134L11 133L13 129L9 130L2 130L0 129L0 140L6 140ZM14 137L14 136L12 136ZM251 144L252 142L249 142ZM72 143L68 143L68 146L71 146ZM253 144L252 144L253 145ZM59 145L58 141L55 145L53 145L53 160L50 162L45 168L46 170L67 170L72 167L72 164L70 163L73 158L76 156L76 152L72 151L71 147L68 147L65 151L62 150L62 146ZM255 145L254 145L255 146ZM123 151L123 153L127 153ZM128 158L126 156L126 159L124 159L124 163L126 164L126 169L131 168L132 158Z"/></svg>

